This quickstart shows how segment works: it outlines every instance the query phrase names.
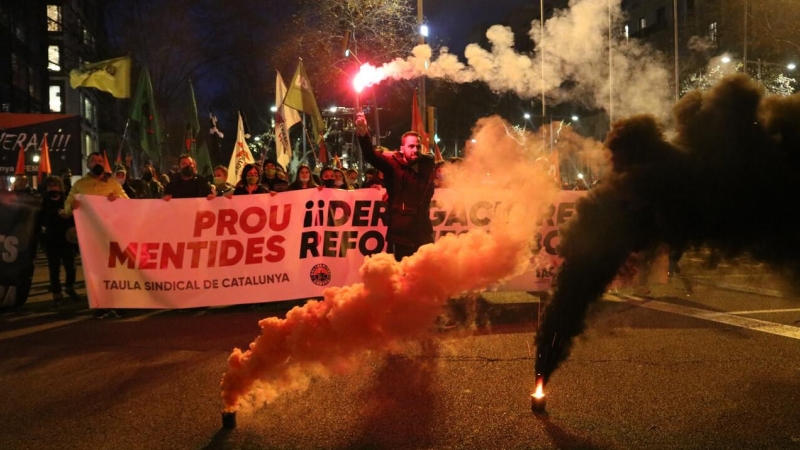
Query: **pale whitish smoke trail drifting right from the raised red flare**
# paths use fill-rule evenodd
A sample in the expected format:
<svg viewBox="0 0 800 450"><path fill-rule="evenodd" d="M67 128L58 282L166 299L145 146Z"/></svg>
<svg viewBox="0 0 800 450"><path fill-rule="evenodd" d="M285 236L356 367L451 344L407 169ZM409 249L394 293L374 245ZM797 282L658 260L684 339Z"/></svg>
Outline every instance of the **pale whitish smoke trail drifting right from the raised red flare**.
<svg viewBox="0 0 800 450"><path fill-rule="evenodd" d="M609 57L609 5L616 34L621 29L619 3L574 0L570 9L557 10L545 21L543 39L540 22L534 21L529 31L535 43L532 54L514 50L511 29L495 25L486 32L491 49L467 45L466 64L447 48L432 59L431 48L419 45L406 59L367 69L368 84L420 76L456 83L482 81L494 91L514 92L522 98L544 92L549 103L582 102L613 110L616 117L666 114L672 101L671 76L663 60L636 39L625 42L615 38ZM569 87L565 82L570 82Z"/></svg>

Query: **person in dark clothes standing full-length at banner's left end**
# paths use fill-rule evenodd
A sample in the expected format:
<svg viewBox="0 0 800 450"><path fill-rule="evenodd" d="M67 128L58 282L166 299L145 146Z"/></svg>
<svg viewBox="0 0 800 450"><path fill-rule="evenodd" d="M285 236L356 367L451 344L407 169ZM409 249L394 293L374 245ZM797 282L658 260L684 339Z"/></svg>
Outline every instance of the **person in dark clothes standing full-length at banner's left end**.
<svg viewBox="0 0 800 450"><path fill-rule="evenodd" d="M50 270L50 292L53 293L54 306L61 306L64 299L61 285L61 266L64 266L64 291L73 301L79 299L75 292L75 246L67 241L67 230L75 226L72 216L59 214L64 208L66 196L64 182L60 177L47 177L44 181L42 210L39 212L40 240L47 266Z"/></svg>

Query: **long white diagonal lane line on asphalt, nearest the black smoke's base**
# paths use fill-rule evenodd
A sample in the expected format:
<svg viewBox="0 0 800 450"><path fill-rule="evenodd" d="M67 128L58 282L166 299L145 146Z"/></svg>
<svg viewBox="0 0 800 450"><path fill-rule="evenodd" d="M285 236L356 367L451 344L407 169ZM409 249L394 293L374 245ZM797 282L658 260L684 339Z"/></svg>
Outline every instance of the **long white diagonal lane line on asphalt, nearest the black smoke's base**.
<svg viewBox="0 0 800 450"><path fill-rule="evenodd" d="M708 320L711 322L722 323L725 325L731 325L748 330L761 331L763 333L775 334L778 336L800 340L800 328L790 325L767 322L766 320L752 319L750 317L734 316L725 312L708 311L689 306L674 305L672 303L649 300L641 297L606 295L604 298L611 301L619 301L622 303L637 305L642 308L678 314L686 317L693 317L695 319Z"/></svg>

